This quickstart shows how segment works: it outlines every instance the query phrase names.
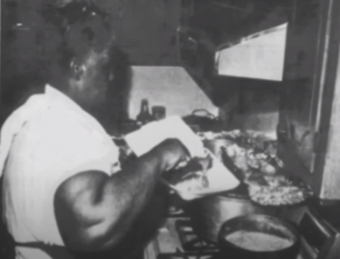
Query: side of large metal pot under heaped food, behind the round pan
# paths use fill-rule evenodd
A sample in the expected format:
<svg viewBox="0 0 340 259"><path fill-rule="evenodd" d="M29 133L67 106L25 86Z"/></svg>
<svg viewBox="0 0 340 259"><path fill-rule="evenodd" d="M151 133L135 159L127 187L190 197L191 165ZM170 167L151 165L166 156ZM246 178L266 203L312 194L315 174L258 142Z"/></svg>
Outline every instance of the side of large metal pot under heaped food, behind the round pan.
<svg viewBox="0 0 340 259"><path fill-rule="evenodd" d="M214 243L225 221L248 214L268 214L261 206L251 202L243 184L232 191L188 202L185 209L197 235Z"/></svg>

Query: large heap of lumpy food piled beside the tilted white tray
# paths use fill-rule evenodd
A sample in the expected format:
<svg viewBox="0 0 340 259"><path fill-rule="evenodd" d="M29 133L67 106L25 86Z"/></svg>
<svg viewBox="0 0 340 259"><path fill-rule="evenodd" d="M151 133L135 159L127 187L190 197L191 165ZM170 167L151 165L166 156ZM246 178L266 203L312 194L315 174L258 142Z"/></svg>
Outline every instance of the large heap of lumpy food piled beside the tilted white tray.
<svg viewBox="0 0 340 259"><path fill-rule="evenodd" d="M293 177L281 175L283 162L276 155L276 141L261 133L228 131L200 133L203 142L226 139L222 150L242 172L251 200L261 205L292 205L312 195L309 188ZM221 158L222 159L222 158Z"/></svg>

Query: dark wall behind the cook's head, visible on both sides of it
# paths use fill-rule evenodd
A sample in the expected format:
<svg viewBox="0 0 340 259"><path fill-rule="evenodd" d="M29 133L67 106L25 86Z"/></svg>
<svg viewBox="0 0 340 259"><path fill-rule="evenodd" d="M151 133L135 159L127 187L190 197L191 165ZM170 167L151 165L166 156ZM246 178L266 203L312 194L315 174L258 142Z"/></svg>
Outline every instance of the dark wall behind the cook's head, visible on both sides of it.
<svg viewBox="0 0 340 259"><path fill-rule="evenodd" d="M63 13L72 23L69 28L64 28L60 13L47 9L48 4L57 2L63 1L1 1L1 123L29 94L42 90L55 73L55 60L62 62L65 51L81 52L90 44L91 34L99 35L99 44L113 36L132 64L178 63L176 28L181 0L83 1L94 3L89 11L94 10L99 18L92 23L75 6ZM62 30L77 30L85 23L91 23L91 29L81 31L84 40L74 38L70 40L72 48L63 46ZM104 23L104 28L97 23Z"/></svg>

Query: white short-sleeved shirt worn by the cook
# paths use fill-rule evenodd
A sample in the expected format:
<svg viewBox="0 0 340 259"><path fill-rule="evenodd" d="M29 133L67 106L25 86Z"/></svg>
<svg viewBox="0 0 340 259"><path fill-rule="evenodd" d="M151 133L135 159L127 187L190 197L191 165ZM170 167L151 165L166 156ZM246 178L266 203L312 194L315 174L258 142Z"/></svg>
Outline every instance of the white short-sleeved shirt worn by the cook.
<svg viewBox="0 0 340 259"><path fill-rule="evenodd" d="M64 246L53 207L57 187L84 170L120 170L119 150L100 123L49 85L8 117L0 143L3 216L19 243ZM17 246L16 258L51 257Z"/></svg>

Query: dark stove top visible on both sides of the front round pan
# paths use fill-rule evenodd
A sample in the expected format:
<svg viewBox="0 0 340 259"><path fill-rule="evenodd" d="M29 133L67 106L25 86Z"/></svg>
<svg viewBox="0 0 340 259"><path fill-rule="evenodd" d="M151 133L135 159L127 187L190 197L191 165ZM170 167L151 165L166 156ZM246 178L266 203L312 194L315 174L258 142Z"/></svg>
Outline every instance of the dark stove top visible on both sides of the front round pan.
<svg viewBox="0 0 340 259"><path fill-rule="evenodd" d="M301 251L296 259L339 259L340 234L308 208L291 219L301 234ZM284 216L284 215L283 215ZM181 209L172 211L157 238L145 250L145 259L220 259L217 243L199 238L191 219ZM233 259L233 258L223 258ZM295 259L295 258L293 258Z"/></svg>

